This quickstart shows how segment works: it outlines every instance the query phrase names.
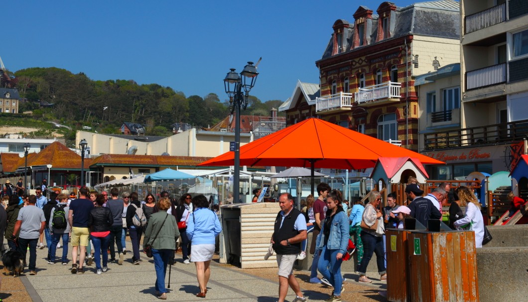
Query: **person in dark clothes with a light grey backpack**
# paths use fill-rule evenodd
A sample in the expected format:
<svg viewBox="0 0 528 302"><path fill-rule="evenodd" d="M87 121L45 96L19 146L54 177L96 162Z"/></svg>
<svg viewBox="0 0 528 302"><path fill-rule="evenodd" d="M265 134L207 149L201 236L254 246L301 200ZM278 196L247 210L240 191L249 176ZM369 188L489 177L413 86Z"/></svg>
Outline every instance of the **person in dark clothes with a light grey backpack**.
<svg viewBox="0 0 528 302"><path fill-rule="evenodd" d="M132 242L132 263L138 265L141 262L139 258L139 241L141 240L141 233L143 227L147 225L147 218L141 207L141 202L138 200L137 192L130 193L130 203L127 207L127 228L130 241Z"/></svg>

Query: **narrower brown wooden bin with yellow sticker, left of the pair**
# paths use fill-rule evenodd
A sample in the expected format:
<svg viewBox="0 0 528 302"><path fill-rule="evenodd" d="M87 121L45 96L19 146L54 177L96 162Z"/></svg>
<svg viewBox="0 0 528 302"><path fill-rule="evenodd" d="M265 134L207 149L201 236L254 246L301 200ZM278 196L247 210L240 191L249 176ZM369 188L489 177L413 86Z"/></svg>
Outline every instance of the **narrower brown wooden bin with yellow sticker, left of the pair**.
<svg viewBox="0 0 528 302"><path fill-rule="evenodd" d="M410 230L387 229L385 247L387 257L387 300L409 302L409 256L407 238Z"/></svg>

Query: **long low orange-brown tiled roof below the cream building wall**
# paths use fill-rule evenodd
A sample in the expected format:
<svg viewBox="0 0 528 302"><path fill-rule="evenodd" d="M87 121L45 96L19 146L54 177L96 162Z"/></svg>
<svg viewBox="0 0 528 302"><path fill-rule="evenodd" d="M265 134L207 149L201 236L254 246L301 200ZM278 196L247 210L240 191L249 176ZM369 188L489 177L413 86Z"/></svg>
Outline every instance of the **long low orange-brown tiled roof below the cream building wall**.
<svg viewBox="0 0 528 302"><path fill-rule="evenodd" d="M99 165L144 165L149 167L194 167L210 157L166 156L166 155L129 155L102 154L91 161L91 167Z"/></svg>

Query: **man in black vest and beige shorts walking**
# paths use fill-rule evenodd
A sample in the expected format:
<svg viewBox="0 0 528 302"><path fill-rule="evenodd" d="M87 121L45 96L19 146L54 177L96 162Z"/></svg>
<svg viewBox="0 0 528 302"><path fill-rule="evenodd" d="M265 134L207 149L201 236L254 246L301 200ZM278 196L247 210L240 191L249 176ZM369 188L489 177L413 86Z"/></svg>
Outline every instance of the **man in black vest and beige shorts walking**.
<svg viewBox="0 0 528 302"><path fill-rule="evenodd" d="M286 299L288 285L297 295L293 301L305 302L307 299L300 291L299 283L293 275L293 267L300 253L300 244L307 236L306 220L304 215L294 208L294 198L290 194L280 195L279 206L281 211L277 215L274 233L271 236L279 266L279 302L284 302Z"/></svg>

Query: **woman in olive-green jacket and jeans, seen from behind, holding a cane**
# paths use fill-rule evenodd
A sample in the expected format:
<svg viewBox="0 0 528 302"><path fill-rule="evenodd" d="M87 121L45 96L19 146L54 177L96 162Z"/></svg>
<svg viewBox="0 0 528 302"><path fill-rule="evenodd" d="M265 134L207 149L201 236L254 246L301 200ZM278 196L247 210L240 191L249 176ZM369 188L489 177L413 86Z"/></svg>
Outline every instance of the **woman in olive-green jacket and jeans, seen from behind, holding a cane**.
<svg viewBox="0 0 528 302"><path fill-rule="evenodd" d="M158 299L166 300L165 275L168 260L171 259L172 252L176 249L176 240L180 237L180 231L178 231L176 218L167 213L167 210L171 208L171 200L166 197L160 198L157 207L159 211L150 216L143 238L143 249L145 250L148 245L152 246L156 269L156 296Z"/></svg>

